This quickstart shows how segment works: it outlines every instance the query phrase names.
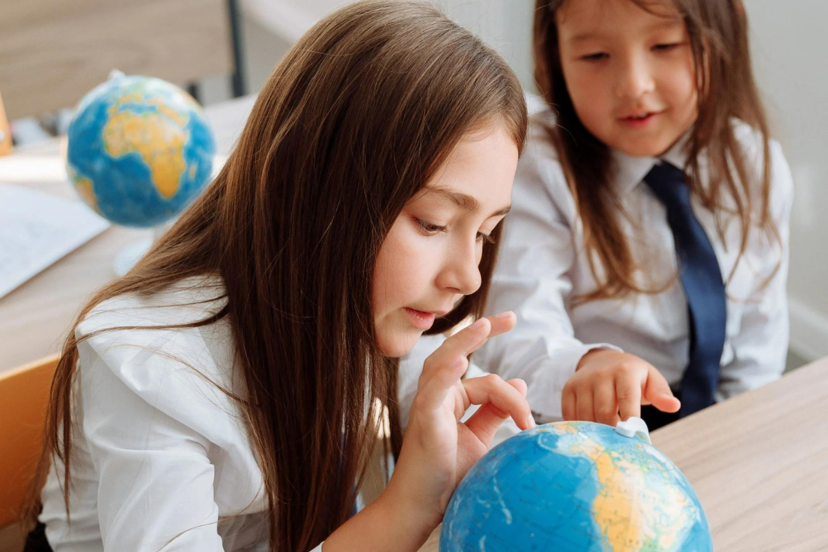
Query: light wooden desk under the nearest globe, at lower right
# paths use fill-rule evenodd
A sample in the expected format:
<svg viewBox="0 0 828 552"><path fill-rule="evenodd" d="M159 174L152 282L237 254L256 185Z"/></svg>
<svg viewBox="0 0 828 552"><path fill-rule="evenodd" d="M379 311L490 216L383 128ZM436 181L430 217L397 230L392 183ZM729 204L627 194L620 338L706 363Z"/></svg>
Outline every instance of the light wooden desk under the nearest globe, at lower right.
<svg viewBox="0 0 828 552"><path fill-rule="evenodd" d="M828 550L828 358L652 433L716 552ZM420 552L437 552L439 528Z"/></svg>

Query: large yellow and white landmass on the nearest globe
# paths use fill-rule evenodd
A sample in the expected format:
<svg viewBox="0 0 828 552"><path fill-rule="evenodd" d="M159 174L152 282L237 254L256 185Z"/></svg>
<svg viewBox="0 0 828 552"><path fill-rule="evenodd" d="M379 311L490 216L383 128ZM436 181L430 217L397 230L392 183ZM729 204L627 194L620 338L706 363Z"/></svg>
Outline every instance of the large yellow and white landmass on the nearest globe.
<svg viewBox="0 0 828 552"><path fill-rule="evenodd" d="M648 475L658 477L657 473L647 473L628 458L577 434L575 424L561 424L556 429L573 439L570 452L595 462L601 487L593 503L593 516L609 551L641 552L654 550L656 545L655 550L673 550L681 530L691 523L694 506L685 494L673 485L648 481ZM667 496L662 496L665 493ZM655 504L661 507L659 511L647 507ZM663 523L664 519L670 524Z"/></svg>

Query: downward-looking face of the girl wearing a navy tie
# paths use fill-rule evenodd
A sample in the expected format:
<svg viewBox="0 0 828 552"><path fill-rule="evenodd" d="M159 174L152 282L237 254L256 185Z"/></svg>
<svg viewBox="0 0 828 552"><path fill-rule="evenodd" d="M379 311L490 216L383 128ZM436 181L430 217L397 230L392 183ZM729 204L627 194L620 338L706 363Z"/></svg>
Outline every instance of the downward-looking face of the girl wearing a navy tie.
<svg viewBox="0 0 828 552"><path fill-rule="evenodd" d="M575 112L601 142L660 156L696 121L687 28L669 2L568 0L557 11L561 68Z"/></svg>

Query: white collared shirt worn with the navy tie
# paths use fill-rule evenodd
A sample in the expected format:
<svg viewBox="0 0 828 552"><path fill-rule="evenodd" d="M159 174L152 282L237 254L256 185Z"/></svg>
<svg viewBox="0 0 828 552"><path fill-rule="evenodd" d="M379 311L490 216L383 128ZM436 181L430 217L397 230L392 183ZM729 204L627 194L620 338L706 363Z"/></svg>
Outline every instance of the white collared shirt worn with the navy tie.
<svg viewBox="0 0 828 552"><path fill-rule="evenodd" d="M580 358L593 348L613 347L637 355L657 367L671 386L680 386L690 348L687 301L676 277L676 249L666 210L643 185L644 176L659 159L614 151L611 185L627 215L620 223L638 265L638 282L649 286L672 279L672 285L655 295L635 294L573 306L573 297L589 293L597 285L585 257L575 199L545 130L554 122L554 115L537 97L529 98L529 108L529 137L518 164L512 211L504 221L486 309L487 314L514 310L517 327L489 340L475 354L475 362L503 377L526 380L529 404L542 421L561 417L563 386ZM733 124L750 166L761 167L758 133L743 122ZM673 146L662 159L684 167L683 143ZM706 184L705 159L700 161L702 182ZM726 226L723 242L716 231L714 214L692 199L696 218L713 244L727 286L726 336L717 401L772 382L785 366L792 176L777 142L771 143L771 166L770 214L782 247L754 229L732 277L729 275L741 240L738 221L732 219ZM755 194L757 218L760 171L753 169L749 186Z"/></svg>

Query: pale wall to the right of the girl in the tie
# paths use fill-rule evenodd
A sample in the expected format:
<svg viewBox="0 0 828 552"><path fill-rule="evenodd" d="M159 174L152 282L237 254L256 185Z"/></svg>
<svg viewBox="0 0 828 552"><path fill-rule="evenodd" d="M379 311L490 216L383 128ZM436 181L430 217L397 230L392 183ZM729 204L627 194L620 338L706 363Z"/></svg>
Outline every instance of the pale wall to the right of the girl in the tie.
<svg viewBox="0 0 828 552"><path fill-rule="evenodd" d="M795 185L791 348L828 355L828 2L747 0L753 65Z"/></svg>

